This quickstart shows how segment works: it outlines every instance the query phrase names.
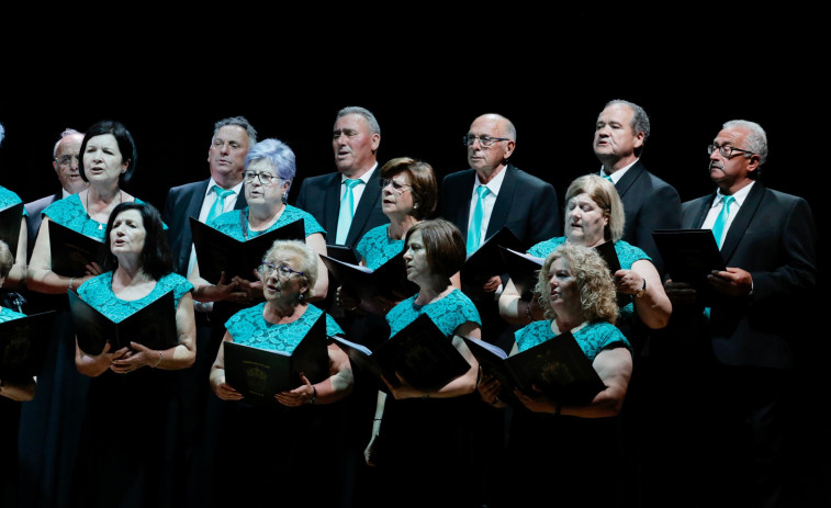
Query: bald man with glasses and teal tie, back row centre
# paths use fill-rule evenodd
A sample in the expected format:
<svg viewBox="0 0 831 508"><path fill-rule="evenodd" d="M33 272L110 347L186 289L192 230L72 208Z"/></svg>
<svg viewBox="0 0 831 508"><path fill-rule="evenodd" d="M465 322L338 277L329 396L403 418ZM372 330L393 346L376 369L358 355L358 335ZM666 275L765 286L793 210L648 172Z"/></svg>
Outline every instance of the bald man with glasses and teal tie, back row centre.
<svg viewBox="0 0 831 508"><path fill-rule="evenodd" d="M476 248L503 227L507 227L527 249L538 241L562 235L562 219L557 192L542 181L508 162L516 146L514 124L499 114L476 117L464 136L469 169L446 176L439 188L438 215L456 224L468 238L468 251ZM479 191L484 185L487 191ZM480 192L483 192L482 222L471 228ZM524 251L524 249L523 249ZM476 305L482 318L482 339L509 351L514 343L514 326L499 317L498 296L508 275L502 274L468 286L464 291ZM510 411L494 409L486 404L474 406L476 428L472 429L472 464L483 471L474 486L478 501L483 505L498 498L506 442L505 429ZM506 505L507 506L507 505Z"/></svg>

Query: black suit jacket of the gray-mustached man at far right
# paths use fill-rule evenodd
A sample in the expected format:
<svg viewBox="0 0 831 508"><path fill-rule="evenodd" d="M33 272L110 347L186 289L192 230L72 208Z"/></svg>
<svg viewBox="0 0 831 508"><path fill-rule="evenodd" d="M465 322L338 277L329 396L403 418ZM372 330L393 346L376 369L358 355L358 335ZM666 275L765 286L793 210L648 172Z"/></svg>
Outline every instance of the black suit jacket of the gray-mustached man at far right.
<svg viewBox="0 0 831 508"><path fill-rule="evenodd" d="M715 197L684 203L682 227L700 228ZM753 292L715 302L706 328L720 363L791 366L799 307L816 290L816 236L806 200L753 184L721 246L727 267L751 273Z"/></svg>

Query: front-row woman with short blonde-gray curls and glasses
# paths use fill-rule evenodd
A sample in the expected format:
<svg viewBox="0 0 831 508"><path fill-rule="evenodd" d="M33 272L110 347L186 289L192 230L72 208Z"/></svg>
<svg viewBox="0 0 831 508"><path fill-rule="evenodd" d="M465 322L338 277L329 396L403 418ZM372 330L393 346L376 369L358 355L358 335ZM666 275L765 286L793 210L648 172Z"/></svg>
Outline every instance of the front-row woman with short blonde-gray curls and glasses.
<svg viewBox="0 0 831 508"><path fill-rule="evenodd" d="M323 315L326 335L342 335L332 316L310 305L319 273L319 256L299 240L277 240L259 268L265 302L233 315L211 370L211 387L228 405L217 443L216 506L258 506L262 499L285 506L337 506L338 467L346 460L342 426L333 404L352 390L346 353L329 341L324 381L278 393L273 404L248 404L225 377L225 347L237 342L291 352ZM257 460L252 461L251 458ZM247 466L251 464L250 466ZM238 479L243 479L240 483Z"/></svg>

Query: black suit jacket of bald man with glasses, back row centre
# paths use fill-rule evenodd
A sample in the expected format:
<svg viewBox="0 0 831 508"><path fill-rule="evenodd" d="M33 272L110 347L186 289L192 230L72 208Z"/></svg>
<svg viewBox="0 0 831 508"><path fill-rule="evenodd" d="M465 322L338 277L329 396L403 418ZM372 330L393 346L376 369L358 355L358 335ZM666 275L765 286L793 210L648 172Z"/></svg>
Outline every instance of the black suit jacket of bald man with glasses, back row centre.
<svg viewBox="0 0 831 508"><path fill-rule="evenodd" d="M450 173L441 181L439 189L438 215L456 224L462 238L468 237L475 174L473 169ZM563 222L554 187L514 165L507 165L485 238L505 226L526 248L562 236Z"/></svg>

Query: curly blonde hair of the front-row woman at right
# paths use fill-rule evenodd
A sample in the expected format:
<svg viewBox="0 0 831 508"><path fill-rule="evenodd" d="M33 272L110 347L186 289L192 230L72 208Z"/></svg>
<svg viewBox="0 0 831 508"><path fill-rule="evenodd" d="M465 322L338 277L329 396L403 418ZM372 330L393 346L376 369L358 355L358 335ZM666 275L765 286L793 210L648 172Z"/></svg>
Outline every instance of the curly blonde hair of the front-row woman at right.
<svg viewBox="0 0 831 508"><path fill-rule="evenodd" d="M580 287L583 319L608 321L614 325L618 315L617 292L606 261L591 247L568 242L548 255L539 271L534 297L546 309L546 318L557 317L548 301L548 281L551 280L551 264L558 259L565 261L569 272L574 275Z"/></svg>

